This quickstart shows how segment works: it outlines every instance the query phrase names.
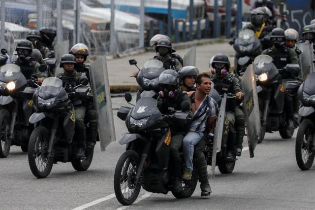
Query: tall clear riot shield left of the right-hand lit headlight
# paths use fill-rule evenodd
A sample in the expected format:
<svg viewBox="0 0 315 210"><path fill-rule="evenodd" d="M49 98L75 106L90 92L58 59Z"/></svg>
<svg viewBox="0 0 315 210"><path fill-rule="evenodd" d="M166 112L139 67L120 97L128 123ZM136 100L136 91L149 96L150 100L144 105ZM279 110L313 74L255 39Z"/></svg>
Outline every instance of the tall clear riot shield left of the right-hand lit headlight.
<svg viewBox="0 0 315 210"><path fill-rule="evenodd" d="M241 86L244 91L243 111L246 119L247 140L250 157L254 157L254 149L260 138L260 113L257 96L256 80L252 65L242 76Z"/></svg>

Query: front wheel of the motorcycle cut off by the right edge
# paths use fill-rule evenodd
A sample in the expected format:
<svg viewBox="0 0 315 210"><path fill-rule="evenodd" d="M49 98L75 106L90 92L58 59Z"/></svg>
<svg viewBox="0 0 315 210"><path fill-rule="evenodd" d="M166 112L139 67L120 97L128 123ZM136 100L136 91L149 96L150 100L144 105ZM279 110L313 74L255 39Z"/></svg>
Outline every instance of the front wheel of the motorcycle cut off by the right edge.
<svg viewBox="0 0 315 210"><path fill-rule="evenodd" d="M315 150L310 151L307 138L314 137L314 123L309 120L303 120L296 135L295 158L298 167L301 170L309 170L314 162ZM314 141L314 139L312 140ZM307 157L306 160L303 160Z"/></svg>

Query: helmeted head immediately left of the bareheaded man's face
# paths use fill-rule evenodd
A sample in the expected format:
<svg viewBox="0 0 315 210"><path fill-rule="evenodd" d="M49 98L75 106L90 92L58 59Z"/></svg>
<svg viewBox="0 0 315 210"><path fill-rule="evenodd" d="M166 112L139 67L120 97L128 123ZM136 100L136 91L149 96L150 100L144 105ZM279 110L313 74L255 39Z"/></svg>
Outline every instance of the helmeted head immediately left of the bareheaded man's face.
<svg viewBox="0 0 315 210"><path fill-rule="evenodd" d="M178 73L182 83L182 90L185 92L195 91L194 84L199 70L196 67L187 66L181 68Z"/></svg>

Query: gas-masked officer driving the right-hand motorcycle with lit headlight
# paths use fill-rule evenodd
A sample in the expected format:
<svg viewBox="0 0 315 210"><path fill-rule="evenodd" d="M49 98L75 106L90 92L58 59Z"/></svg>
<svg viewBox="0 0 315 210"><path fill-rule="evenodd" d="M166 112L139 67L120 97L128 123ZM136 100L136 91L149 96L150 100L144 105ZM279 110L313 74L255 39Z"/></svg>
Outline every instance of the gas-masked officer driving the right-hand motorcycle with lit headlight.
<svg viewBox="0 0 315 210"><path fill-rule="evenodd" d="M277 69L283 70L286 64L298 64L298 56L292 48L285 47L284 30L276 28L271 32L271 41L273 47L264 50L261 54L269 55L273 58L273 63ZM282 81L285 83L290 78L287 77L284 71L280 71ZM284 84L285 87L285 84ZM285 111L286 123L288 127L293 127L293 99L290 95L285 93Z"/></svg>

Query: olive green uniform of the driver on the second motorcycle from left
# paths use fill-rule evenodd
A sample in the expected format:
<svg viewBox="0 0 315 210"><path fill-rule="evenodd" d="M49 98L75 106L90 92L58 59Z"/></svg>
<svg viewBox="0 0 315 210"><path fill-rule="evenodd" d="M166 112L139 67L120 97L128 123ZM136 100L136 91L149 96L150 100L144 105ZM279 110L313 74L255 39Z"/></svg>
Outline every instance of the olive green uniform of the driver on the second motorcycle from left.
<svg viewBox="0 0 315 210"><path fill-rule="evenodd" d="M63 71L63 73L60 73L57 77L63 80L63 87L65 88L66 92L72 92L72 89L75 86L81 84L82 80L87 79L84 74L77 72L76 70L73 70L70 73L68 73L67 71ZM90 84L88 84L87 86L90 86ZM86 106L81 100L73 99L72 102L75 111L76 140L78 146L85 149L86 132L84 118L86 113Z"/></svg>

